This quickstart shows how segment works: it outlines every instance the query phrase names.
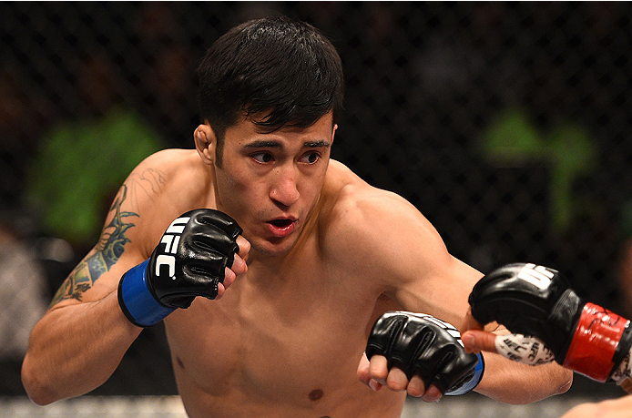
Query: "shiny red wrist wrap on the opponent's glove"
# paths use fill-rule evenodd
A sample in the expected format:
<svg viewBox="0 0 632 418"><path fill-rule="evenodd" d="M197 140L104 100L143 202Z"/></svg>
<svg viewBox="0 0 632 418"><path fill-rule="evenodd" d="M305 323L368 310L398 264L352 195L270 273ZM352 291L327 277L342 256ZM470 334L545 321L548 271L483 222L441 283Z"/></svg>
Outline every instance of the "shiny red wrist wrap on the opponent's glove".
<svg viewBox="0 0 632 418"><path fill-rule="evenodd" d="M627 323L627 319L616 313L586 303L566 352L564 367L606 382L615 366L612 358Z"/></svg>

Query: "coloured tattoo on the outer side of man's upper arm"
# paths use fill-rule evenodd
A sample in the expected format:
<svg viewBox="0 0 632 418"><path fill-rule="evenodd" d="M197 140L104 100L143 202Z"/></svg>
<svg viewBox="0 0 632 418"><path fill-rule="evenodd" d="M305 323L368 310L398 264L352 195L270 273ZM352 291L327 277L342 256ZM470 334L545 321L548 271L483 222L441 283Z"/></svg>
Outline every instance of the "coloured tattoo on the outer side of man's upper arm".
<svg viewBox="0 0 632 418"><path fill-rule="evenodd" d="M110 212L114 212L114 218L101 232L95 249L76 266L56 292L50 307L67 299L81 301L83 293L92 287L101 274L110 270L123 253L125 244L131 242L125 233L135 224L126 218L138 217L138 213L121 211L121 205L126 198L127 185L124 184L118 190L117 198L109 209Z"/></svg>

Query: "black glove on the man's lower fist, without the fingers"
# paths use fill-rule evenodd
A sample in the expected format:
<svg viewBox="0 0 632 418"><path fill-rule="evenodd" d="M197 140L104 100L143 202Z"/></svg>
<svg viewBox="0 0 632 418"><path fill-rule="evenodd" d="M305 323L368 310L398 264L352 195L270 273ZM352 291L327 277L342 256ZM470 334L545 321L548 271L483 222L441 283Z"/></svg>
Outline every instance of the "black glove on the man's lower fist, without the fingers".
<svg viewBox="0 0 632 418"><path fill-rule="evenodd" d="M434 383L443 394L468 393L481 381L481 354L464 351L461 334L452 325L420 313L390 311L375 321L366 346L366 356L388 360L388 369L398 367L408 380L422 378L425 388Z"/></svg>

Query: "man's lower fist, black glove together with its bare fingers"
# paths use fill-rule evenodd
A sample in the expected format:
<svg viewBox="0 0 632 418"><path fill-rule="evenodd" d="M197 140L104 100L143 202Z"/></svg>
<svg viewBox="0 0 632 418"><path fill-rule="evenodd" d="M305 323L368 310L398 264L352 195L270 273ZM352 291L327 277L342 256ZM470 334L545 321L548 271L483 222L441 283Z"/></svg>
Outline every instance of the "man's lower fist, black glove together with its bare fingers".
<svg viewBox="0 0 632 418"><path fill-rule="evenodd" d="M391 311L373 325L358 376L373 390L382 385L424 401L474 389L484 372L482 356L464 352L452 325L430 315Z"/></svg>

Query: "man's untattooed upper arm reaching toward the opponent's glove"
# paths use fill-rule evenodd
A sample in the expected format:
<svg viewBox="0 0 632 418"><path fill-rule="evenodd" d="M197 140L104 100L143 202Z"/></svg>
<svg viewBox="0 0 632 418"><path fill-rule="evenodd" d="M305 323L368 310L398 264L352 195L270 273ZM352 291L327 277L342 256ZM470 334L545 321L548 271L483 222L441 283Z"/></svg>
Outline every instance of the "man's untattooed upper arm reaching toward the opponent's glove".
<svg viewBox="0 0 632 418"><path fill-rule="evenodd" d="M482 274L446 249L439 233L405 199L374 190L350 210L350 236L363 275L406 311L459 326Z"/></svg>

